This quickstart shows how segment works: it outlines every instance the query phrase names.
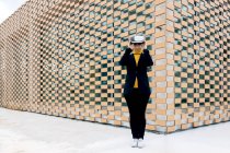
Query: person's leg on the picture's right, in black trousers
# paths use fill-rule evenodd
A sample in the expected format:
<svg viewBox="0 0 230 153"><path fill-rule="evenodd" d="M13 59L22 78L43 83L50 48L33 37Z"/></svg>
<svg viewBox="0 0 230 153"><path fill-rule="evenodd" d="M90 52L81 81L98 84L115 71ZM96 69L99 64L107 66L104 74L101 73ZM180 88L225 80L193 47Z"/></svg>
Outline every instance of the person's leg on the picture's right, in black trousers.
<svg viewBox="0 0 230 153"><path fill-rule="evenodd" d="M146 108L148 105L150 95L140 95L140 106L139 106L139 138L143 139L146 130Z"/></svg>

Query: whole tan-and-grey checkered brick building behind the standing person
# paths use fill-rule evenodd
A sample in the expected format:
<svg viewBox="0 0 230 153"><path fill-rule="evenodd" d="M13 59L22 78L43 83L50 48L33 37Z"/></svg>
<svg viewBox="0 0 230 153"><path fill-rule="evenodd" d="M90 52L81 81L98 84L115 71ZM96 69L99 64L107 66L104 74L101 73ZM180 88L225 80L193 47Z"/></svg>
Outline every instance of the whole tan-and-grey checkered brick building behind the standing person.
<svg viewBox="0 0 230 153"><path fill-rule="evenodd" d="M129 127L118 61L128 37L143 34L154 61L147 129L226 121L228 9L227 1L30 0L0 25L0 106Z"/></svg>

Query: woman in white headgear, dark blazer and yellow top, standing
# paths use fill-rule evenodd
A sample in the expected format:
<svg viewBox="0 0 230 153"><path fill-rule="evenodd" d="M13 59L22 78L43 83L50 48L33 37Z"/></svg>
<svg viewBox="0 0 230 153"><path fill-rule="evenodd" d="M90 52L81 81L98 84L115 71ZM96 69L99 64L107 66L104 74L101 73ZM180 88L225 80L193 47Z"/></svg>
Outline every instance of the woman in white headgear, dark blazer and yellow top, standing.
<svg viewBox="0 0 230 153"><path fill-rule="evenodd" d="M146 108L151 94L147 75L147 67L153 64L149 50L145 49L143 36L130 37L119 64L126 66L127 75L123 95L129 110L129 123L133 134L133 148L143 146L146 129Z"/></svg>

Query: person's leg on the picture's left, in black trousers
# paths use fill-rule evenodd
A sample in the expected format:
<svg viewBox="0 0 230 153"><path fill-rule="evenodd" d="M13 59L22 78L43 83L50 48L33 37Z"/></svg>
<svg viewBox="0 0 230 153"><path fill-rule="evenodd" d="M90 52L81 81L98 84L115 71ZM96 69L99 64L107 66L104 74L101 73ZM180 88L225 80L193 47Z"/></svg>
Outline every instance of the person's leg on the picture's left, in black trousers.
<svg viewBox="0 0 230 153"><path fill-rule="evenodd" d="M134 92L130 95L125 95L125 99L128 106L129 110L129 123L131 129L131 134L134 139L138 139L138 103L137 103L137 90L134 90Z"/></svg>

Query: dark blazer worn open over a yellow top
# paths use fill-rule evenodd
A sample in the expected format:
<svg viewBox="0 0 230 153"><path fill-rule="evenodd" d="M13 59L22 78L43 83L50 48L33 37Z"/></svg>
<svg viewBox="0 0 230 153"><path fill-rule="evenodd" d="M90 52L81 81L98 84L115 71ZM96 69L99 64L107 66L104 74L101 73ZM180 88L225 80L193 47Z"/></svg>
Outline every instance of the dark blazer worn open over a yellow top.
<svg viewBox="0 0 230 153"><path fill-rule="evenodd" d="M143 52L140 55L138 61L138 66L136 66L133 50L130 48L126 48L125 54L120 58L119 64L126 66L127 68L127 75L123 92L124 96L131 93L136 76L138 79L138 89L140 89L141 94L151 94L147 75L147 67L153 66L153 61L148 49L143 49Z"/></svg>

